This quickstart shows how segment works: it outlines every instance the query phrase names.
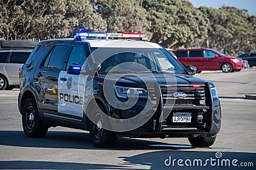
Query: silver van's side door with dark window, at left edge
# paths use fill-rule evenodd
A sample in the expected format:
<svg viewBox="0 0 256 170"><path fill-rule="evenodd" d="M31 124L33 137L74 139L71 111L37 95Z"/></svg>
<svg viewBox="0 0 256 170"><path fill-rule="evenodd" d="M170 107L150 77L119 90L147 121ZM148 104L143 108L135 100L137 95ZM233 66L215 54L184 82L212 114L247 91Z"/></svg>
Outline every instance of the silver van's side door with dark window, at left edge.
<svg viewBox="0 0 256 170"><path fill-rule="evenodd" d="M10 83L19 84L19 68L26 62L31 52L15 52L10 54L8 62L4 65Z"/></svg>

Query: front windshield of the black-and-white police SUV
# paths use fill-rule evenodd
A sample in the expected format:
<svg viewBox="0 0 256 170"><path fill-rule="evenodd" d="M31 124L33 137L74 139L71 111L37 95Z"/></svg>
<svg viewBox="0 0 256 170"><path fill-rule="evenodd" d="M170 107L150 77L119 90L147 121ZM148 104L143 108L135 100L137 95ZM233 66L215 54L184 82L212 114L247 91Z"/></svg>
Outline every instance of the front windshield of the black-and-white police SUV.
<svg viewBox="0 0 256 170"><path fill-rule="evenodd" d="M182 65L163 48L91 48L99 73L177 73L187 74ZM102 56L108 56L102 59Z"/></svg>

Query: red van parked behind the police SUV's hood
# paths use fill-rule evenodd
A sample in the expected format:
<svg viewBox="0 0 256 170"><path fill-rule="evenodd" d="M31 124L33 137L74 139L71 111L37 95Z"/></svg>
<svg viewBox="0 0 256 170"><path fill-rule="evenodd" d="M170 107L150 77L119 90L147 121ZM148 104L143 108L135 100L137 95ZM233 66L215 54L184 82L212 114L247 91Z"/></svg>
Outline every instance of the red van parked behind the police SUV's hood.
<svg viewBox="0 0 256 170"><path fill-rule="evenodd" d="M173 50L173 53L184 66L196 66L198 73L203 70L222 70L229 73L243 68L243 62L239 58L226 56L212 48Z"/></svg>

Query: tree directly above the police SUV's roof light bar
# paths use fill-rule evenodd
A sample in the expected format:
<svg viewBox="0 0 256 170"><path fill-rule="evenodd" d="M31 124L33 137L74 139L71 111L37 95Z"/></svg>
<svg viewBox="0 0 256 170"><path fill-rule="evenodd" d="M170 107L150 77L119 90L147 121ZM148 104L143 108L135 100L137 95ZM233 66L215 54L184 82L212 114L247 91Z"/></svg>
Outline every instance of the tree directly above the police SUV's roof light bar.
<svg viewBox="0 0 256 170"><path fill-rule="evenodd" d="M97 12L107 22L108 32L149 32L148 13L137 1L103 0L94 1Z"/></svg>

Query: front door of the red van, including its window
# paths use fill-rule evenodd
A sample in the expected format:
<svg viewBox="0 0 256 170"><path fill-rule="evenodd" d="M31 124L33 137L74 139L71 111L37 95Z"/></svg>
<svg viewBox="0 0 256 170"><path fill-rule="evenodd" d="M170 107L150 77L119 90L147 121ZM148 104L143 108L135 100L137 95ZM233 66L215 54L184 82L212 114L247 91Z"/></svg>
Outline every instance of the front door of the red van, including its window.
<svg viewBox="0 0 256 170"><path fill-rule="evenodd" d="M204 50L203 69L218 70L220 69L221 60L215 57L216 53L209 50Z"/></svg>

